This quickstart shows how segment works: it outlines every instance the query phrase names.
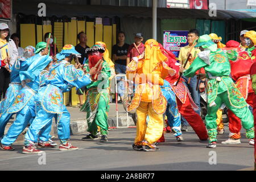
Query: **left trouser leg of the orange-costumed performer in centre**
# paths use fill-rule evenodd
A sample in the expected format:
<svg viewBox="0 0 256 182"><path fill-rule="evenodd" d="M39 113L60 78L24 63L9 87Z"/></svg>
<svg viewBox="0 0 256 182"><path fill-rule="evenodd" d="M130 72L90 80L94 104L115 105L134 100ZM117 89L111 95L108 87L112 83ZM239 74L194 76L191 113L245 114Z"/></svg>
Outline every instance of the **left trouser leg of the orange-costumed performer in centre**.
<svg viewBox="0 0 256 182"><path fill-rule="evenodd" d="M136 123L137 126L137 135L134 140L135 145L141 145L142 140L145 138L147 124L146 124L146 118L148 113L148 102L142 102L139 104L139 107L137 108L137 116L138 120Z"/></svg>

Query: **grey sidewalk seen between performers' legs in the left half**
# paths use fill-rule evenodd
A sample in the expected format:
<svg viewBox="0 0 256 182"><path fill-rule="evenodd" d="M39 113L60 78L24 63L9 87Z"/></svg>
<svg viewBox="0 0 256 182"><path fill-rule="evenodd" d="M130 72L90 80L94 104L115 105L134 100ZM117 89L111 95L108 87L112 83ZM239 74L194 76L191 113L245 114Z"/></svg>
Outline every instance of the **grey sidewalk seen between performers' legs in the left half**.
<svg viewBox="0 0 256 182"><path fill-rule="evenodd" d="M86 113L80 111L80 108L78 107L67 107L69 113L71 114L71 122L70 122L70 130L71 135L74 134L86 134L88 125L86 122ZM16 116L14 115L14 118ZM9 127L14 122L15 119L10 120L9 123L7 123L5 128L5 134L9 130ZM53 119L54 120L54 119ZM109 117L108 117L108 123L109 127L115 127L117 126L117 111L115 108L115 103L109 104ZM123 109L123 105L118 103L118 126L124 127L127 126L127 115L125 109ZM135 126L133 118L129 115L129 126ZM27 131L28 127L24 130ZM52 123L52 130L51 135L55 135L57 137L57 127L55 122ZM19 142L20 140L23 140L23 134L20 134L18 139L16 140Z"/></svg>

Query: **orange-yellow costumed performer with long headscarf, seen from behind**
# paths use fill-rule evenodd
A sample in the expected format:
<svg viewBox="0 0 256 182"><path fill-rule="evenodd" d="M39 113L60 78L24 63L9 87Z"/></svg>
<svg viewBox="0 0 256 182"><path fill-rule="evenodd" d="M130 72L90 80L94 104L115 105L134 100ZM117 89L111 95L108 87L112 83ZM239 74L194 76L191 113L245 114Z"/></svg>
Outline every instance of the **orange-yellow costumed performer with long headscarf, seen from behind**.
<svg viewBox="0 0 256 182"><path fill-rule="evenodd" d="M163 97L160 86L164 84L164 78L168 72L174 72L164 61L163 55L154 39L148 39L144 44L143 53L138 60L133 60L127 65L126 74L129 80L137 84L134 98L127 107L127 111L137 109L137 136L133 149L144 151L159 150L154 143L163 133L163 114L166 111L167 101ZM146 123L147 115L149 122Z"/></svg>

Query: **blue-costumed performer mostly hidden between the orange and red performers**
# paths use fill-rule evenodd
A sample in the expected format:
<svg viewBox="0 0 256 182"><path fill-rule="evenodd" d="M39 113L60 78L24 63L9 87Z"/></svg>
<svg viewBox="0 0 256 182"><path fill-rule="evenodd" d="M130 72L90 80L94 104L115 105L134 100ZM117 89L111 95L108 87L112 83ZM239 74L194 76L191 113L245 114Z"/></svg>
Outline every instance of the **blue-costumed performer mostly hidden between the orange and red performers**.
<svg viewBox="0 0 256 182"><path fill-rule="evenodd" d="M164 84L160 86L163 96L167 100L167 107L166 107L166 115L168 125L172 128L172 132L176 137L177 141L183 141L183 137L181 136L181 120L180 120L180 113L177 108L176 96L174 91L172 91L171 85L168 81L164 80Z"/></svg>

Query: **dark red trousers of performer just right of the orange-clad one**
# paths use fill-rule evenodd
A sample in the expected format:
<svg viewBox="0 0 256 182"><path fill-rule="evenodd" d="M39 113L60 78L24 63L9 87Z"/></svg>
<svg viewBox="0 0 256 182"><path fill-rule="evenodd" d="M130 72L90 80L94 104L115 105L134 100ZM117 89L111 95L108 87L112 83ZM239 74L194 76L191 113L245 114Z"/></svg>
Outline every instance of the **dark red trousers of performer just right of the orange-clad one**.
<svg viewBox="0 0 256 182"><path fill-rule="evenodd" d="M193 110L188 95L186 97L184 104L176 97L179 113L188 121L200 140L207 140L207 129L203 119Z"/></svg>

